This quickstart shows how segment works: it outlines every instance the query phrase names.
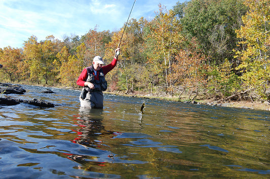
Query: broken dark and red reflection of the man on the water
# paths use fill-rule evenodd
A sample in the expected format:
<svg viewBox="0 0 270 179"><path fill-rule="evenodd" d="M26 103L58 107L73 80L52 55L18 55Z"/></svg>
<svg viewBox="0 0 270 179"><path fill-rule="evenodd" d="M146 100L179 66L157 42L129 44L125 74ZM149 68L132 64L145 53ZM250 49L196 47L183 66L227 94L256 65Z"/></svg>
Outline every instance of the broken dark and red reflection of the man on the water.
<svg viewBox="0 0 270 179"><path fill-rule="evenodd" d="M104 126L102 126L102 113L103 109L90 109L81 107L79 110L79 116L74 119L74 123L78 126L78 128L73 131L76 132L78 136L74 138L72 142L76 144L81 144L86 147L101 149L102 141L98 140L98 137L100 137L101 135L104 136L114 134L111 131L106 131L104 129ZM108 155L108 157L112 156L113 155ZM67 157L70 160L76 161L84 165L87 163L86 161L84 161L85 158L92 158L91 156L76 154L69 154Z"/></svg>

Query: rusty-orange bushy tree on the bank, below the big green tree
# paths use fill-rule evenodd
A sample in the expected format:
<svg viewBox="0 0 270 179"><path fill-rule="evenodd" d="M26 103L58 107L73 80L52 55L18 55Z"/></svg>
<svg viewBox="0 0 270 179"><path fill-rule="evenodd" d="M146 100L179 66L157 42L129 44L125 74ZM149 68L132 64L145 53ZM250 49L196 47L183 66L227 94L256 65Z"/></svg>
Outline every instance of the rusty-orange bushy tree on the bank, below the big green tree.
<svg viewBox="0 0 270 179"><path fill-rule="evenodd" d="M175 62L172 65L170 78L173 81L175 91L179 91L179 98L185 92L189 97L195 93L195 98L205 92L207 84L208 66L205 65L205 55L196 51L196 40L191 41L188 47L179 49Z"/></svg>

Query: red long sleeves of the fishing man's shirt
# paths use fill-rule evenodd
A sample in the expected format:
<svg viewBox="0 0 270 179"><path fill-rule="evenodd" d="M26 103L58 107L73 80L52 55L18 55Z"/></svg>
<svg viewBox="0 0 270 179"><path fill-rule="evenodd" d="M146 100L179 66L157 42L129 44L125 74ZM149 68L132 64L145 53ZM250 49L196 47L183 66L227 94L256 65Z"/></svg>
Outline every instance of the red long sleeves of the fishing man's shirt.
<svg viewBox="0 0 270 179"><path fill-rule="evenodd" d="M116 65L117 65L117 59L113 58L113 60L111 61L110 64L101 67L103 70L104 75L106 75L109 71L111 71ZM77 85L79 86L85 86L85 82L87 80L87 70L86 68L83 70L83 72L81 73L80 77L77 80Z"/></svg>

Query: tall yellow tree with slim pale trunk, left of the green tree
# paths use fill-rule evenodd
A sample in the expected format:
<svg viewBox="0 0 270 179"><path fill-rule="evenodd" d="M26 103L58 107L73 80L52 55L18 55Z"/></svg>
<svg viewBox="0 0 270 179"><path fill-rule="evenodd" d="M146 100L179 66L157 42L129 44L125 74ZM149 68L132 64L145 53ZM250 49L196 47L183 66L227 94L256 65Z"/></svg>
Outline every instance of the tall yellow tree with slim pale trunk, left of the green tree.
<svg viewBox="0 0 270 179"><path fill-rule="evenodd" d="M149 25L146 45L151 49L149 62L155 64L163 72L165 89L173 94L173 83L169 76L172 73L172 64L182 46L183 36L181 25L174 12L167 12L161 5L156 18Z"/></svg>

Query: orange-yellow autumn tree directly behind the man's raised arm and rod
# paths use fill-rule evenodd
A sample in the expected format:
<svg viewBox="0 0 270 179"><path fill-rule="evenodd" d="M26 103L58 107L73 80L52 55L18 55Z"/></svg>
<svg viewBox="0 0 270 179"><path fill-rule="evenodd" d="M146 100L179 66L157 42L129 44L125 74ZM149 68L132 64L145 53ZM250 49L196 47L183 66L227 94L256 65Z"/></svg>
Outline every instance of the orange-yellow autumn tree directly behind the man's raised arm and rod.
<svg viewBox="0 0 270 179"><path fill-rule="evenodd" d="M131 19L121 31L113 33L111 42L106 45L105 58L109 59L114 55L114 49L118 47L123 35L118 67L114 70L114 76L108 74L107 77L111 78L113 82L117 81L118 88L126 90L126 93L137 88L137 77L142 75L138 69L141 69L141 64L146 61L146 57L142 53L143 29L146 22L144 18L140 18L138 21ZM125 26L126 30L123 34ZM118 73L115 74L115 71ZM115 75L118 77L117 80L115 80Z"/></svg>

